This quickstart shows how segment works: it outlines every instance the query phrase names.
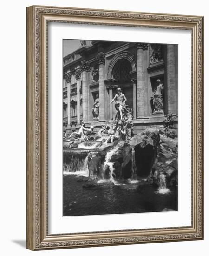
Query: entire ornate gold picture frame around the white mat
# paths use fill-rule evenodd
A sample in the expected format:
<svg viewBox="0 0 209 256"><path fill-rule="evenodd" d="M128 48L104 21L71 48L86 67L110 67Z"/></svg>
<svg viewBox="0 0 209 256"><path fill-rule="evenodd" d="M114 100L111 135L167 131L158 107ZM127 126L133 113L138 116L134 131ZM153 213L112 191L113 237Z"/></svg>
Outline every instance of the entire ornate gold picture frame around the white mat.
<svg viewBox="0 0 209 256"><path fill-rule="evenodd" d="M192 225L47 234L47 22L192 31ZM65 7L27 7L27 248L61 249L203 239L203 17ZM69 230L70 232L70 230Z"/></svg>

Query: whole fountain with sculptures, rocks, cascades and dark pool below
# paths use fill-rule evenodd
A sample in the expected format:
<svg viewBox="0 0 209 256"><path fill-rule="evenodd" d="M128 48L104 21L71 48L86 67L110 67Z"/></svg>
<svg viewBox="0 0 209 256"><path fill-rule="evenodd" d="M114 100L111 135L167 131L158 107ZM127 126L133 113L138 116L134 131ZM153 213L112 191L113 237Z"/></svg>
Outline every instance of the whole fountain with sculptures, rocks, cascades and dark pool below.
<svg viewBox="0 0 209 256"><path fill-rule="evenodd" d="M163 137L157 128L142 133L136 129L134 134L131 111L119 100L115 120L94 121L95 129L92 123L88 127L81 123L77 132L64 138L64 216L108 214L109 209L113 214L121 209L123 213L159 211L170 207L171 196L176 198L176 187L171 187L173 169L177 176L175 141L166 138L160 143ZM73 201L78 202L76 207ZM150 204L156 207L151 209Z"/></svg>

